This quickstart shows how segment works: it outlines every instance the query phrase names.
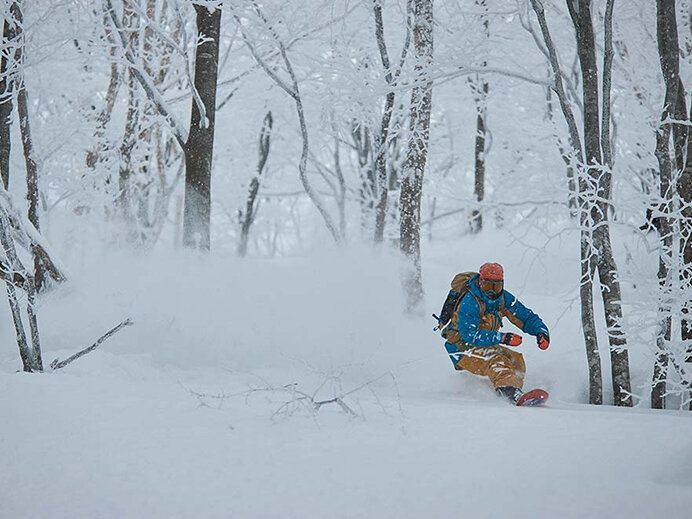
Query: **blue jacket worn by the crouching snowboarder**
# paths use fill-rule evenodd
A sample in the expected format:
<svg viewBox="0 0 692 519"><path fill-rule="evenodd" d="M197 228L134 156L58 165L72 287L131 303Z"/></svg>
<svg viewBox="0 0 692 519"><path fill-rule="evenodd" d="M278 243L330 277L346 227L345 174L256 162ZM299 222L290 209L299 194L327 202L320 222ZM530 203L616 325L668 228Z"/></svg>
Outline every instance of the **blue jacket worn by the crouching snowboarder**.
<svg viewBox="0 0 692 519"><path fill-rule="evenodd" d="M474 297L475 296L475 297ZM486 326L492 329L481 330L481 315L478 299L485 305ZM502 311L504 308L504 312ZM478 275L469 280L469 292L464 294L459 304L457 326L461 338L471 346L489 347L501 343L502 317L507 317L521 331L531 335L548 333L548 327L530 308L525 307L512 294L503 290L496 300L486 297L478 286Z"/></svg>

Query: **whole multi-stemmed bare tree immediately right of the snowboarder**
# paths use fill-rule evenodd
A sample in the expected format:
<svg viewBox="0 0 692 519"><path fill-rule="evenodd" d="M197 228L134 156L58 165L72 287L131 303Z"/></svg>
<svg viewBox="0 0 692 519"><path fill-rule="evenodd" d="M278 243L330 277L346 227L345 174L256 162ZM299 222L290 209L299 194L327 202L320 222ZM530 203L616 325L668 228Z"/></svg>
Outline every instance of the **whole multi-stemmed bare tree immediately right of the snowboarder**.
<svg viewBox="0 0 692 519"><path fill-rule="evenodd" d="M604 164L601 143L610 143L609 128L602 132L599 120L599 82L596 63L594 29L591 19L591 0L567 0L567 7L574 25L577 40L577 55L582 76L582 98L584 106L583 141L577 128L576 119L569 105L563 83L560 64L555 46L545 19L543 4L531 0L543 34L543 41L550 56L553 70L553 88L560 101L562 112L569 129L572 153L576 157L575 169L578 176L580 211L580 257L581 257L581 307L582 329L589 364L589 387L591 403L602 402L602 381L598 342L596 339L593 315L593 277L598 272L601 296L604 304L608 340L610 345L611 375L615 404L631 406L629 357L627 342L620 326L622 305L617 266L613 256L608 222L610 206L611 167ZM613 3L608 0L606 8L606 54L604 58L603 99L604 113L610 112L610 68L612 67L612 13ZM606 124L609 124L609 119ZM612 155L607 151L607 158ZM572 159L574 160L574 159Z"/></svg>

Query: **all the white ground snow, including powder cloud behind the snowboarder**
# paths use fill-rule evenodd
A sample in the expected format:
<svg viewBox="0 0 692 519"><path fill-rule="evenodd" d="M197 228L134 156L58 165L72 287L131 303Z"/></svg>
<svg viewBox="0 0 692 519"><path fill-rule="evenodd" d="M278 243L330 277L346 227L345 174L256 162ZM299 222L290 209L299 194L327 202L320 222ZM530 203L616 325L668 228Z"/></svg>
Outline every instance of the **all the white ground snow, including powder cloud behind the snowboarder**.
<svg viewBox="0 0 692 519"><path fill-rule="evenodd" d="M541 254L517 254L504 231L461 239L463 259L424 249L430 312L454 273L495 260L544 317L550 349L521 346L527 387L551 393L542 409L510 407L452 370L433 320L402 317L386 251L82 262L60 251L75 271L41 302L44 362L125 317L135 325L31 375L17 372L2 317L0 517L688 517L692 413L647 409L647 347L632 345L635 408L585 404L574 238ZM244 394L289 384L322 386L317 399L354 390L344 402L357 416L284 407L286 391Z"/></svg>

